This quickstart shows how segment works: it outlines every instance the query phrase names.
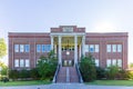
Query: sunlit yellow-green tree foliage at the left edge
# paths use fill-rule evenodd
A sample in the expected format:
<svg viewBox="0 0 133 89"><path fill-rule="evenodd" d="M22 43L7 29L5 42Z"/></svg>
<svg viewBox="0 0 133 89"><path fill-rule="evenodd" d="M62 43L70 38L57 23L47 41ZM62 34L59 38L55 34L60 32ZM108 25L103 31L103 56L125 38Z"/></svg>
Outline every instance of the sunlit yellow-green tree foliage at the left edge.
<svg viewBox="0 0 133 89"><path fill-rule="evenodd" d="M0 58L7 55L7 46L4 39L0 38Z"/></svg>

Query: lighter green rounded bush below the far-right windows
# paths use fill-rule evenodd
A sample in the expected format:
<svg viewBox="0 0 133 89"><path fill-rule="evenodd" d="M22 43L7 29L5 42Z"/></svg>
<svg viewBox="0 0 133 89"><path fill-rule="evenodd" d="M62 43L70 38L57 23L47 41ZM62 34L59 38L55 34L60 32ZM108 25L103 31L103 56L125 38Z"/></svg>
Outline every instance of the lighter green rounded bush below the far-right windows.
<svg viewBox="0 0 133 89"><path fill-rule="evenodd" d="M119 73L119 67L116 67L116 66L111 66L106 69L106 78L108 79L115 79L117 73Z"/></svg>

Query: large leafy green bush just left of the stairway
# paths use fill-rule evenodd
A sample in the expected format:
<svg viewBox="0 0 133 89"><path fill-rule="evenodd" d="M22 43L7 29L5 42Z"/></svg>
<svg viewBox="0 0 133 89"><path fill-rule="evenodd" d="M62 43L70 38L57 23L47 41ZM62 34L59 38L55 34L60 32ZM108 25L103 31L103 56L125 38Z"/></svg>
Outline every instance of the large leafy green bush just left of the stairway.
<svg viewBox="0 0 133 89"><path fill-rule="evenodd" d="M42 80L51 80L57 69L57 57L53 51L50 51L48 57L40 57L37 68Z"/></svg>

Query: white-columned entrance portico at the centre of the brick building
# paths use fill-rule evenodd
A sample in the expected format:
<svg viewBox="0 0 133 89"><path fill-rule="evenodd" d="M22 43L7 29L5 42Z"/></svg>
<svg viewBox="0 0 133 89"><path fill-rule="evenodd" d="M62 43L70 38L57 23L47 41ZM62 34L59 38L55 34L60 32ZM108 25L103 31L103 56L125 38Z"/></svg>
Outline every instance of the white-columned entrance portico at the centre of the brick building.
<svg viewBox="0 0 133 89"><path fill-rule="evenodd" d="M53 30L54 29L54 30ZM75 27L60 27L51 29L51 49L54 49L59 63L76 65L81 55L84 56L85 33ZM63 62L63 65L62 65ZM68 65L66 65L68 66Z"/></svg>

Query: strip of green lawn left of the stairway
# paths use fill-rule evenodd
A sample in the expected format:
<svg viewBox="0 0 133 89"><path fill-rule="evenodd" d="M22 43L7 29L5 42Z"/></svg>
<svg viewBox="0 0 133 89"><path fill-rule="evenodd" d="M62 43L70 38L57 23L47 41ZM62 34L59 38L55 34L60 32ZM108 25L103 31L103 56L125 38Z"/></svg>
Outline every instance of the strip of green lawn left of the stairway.
<svg viewBox="0 0 133 89"><path fill-rule="evenodd" d="M29 86L29 85L49 85L50 81L9 81L2 82L0 81L0 86Z"/></svg>

